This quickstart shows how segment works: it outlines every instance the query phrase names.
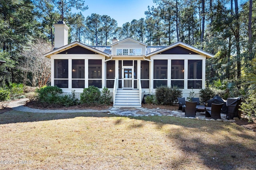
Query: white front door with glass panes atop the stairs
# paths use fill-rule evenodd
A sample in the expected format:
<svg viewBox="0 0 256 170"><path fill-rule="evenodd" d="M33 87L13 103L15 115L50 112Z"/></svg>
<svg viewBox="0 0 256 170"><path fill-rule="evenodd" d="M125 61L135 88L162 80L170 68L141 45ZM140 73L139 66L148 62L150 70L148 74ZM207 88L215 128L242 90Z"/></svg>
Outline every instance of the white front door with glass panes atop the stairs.
<svg viewBox="0 0 256 170"><path fill-rule="evenodd" d="M122 88L133 89L134 88L134 74L132 66L123 66L122 72Z"/></svg>

